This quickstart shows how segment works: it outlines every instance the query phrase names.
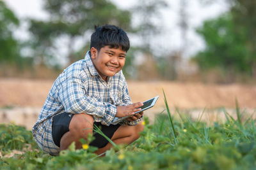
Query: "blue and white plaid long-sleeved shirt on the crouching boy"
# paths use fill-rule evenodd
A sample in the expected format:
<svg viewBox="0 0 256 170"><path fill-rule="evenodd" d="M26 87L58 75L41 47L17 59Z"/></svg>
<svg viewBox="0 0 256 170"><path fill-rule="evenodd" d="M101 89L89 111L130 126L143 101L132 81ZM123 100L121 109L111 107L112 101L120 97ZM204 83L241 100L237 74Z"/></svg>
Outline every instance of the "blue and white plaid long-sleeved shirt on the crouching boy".
<svg viewBox="0 0 256 170"><path fill-rule="evenodd" d="M110 125L116 115L116 106L131 104L127 83L122 71L104 81L86 53L83 60L74 62L58 76L51 87L36 124L33 136L36 143L51 154L60 152L52 141L52 117L67 113L87 113L95 122ZM122 125L136 125L141 118L132 122L124 120Z"/></svg>

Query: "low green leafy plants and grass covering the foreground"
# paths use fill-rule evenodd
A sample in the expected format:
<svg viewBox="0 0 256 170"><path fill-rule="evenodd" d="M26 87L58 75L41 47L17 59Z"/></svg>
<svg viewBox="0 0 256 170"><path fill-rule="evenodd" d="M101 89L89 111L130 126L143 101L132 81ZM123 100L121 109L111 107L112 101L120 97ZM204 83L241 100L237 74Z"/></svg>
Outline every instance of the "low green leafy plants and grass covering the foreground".
<svg viewBox="0 0 256 170"><path fill-rule="evenodd" d="M165 94L164 94L165 96ZM202 122L202 113L191 118L178 108L173 117L166 98L166 113L158 115L154 124L144 118L141 138L129 146L116 146L97 157L90 146L75 150L74 145L52 157L38 149L31 132L17 125L0 125L0 152L31 146L21 155L3 157L0 169L256 169L256 120L244 118L236 106L236 118L225 108L225 122ZM100 131L99 131L100 132Z"/></svg>

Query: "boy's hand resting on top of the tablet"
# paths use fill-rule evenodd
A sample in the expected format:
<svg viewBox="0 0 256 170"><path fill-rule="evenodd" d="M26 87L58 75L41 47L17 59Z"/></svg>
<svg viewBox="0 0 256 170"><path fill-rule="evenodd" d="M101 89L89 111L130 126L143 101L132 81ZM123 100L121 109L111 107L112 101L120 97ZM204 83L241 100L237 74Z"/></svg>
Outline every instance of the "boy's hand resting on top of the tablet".
<svg viewBox="0 0 256 170"><path fill-rule="evenodd" d="M116 106L117 112L116 112L116 117L126 117L129 115L134 114L136 111L141 110L141 106L143 106L143 103L134 103L130 104L128 106ZM136 114L138 115L138 114Z"/></svg>

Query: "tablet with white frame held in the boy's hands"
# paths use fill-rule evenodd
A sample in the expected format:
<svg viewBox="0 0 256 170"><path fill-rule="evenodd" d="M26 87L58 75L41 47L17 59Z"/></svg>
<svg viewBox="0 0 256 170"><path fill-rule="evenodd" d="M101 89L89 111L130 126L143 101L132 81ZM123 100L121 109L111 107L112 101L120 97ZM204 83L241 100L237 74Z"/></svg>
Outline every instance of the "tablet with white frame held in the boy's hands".
<svg viewBox="0 0 256 170"><path fill-rule="evenodd" d="M122 118L115 118L112 122L112 124L116 125L118 124L118 122L122 121L122 120L125 120L126 118L129 118L129 117L132 117L133 115L135 115L136 113L140 113L141 111L144 111L144 110L147 110L149 108L152 108L155 104L156 104L156 101L158 99L159 96L156 96L156 97L153 97L152 99L148 99L147 101L143 102L143 106L141 106L141 110L140 111L136 111L134 112L134 114L132 115L129 115L127 117L122 117Z"/></svg>

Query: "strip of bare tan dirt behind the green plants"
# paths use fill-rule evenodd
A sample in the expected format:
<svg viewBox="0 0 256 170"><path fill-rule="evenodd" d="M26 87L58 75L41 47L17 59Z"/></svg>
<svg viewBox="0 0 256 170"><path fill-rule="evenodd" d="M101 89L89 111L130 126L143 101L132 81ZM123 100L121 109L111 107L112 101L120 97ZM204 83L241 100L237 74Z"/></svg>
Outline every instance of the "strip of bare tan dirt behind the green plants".
<svg viewBox="0 0 256 170"><path fill-rule="evenodd" d="M53 82L54 80L0 78L0 123L15 121L19 124L33 124ZM151 111L148 110L151 114L163 110L163 90L170 108L235 108L236 98L241 108L256 108L256 85L206 85L170 81L127 83L134 103L159 96L156 106ZM20 114L26 116L22 119L19 118ZM28 127L31 128L31 125Z"/></svg>

